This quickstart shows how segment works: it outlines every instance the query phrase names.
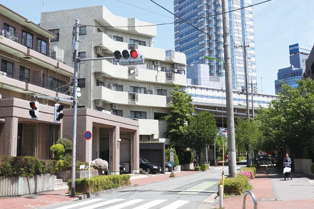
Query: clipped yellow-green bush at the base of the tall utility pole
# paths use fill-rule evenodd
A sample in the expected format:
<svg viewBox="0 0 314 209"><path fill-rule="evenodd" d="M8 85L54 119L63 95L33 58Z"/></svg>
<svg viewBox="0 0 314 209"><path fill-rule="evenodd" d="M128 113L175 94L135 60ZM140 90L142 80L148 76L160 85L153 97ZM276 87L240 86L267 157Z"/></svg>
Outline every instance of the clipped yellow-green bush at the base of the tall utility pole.
<svg viewBox="0 0 314 209"><path fill-rule="evenodd" d="M248 185L248 177L246 175L237 175L236 178L230 178L227 177L224 180L224 194L228 195L241 195L244 191L244 189ZM218 182L218 192L219 195L219 185L222 184L222 181L220 180Z"/></svg>

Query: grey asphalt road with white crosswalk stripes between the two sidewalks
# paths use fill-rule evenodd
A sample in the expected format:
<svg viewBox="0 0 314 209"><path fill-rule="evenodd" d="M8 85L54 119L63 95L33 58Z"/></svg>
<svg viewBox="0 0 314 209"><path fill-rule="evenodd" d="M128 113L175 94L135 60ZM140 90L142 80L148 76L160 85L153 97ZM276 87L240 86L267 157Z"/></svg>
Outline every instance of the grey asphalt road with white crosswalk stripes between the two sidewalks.
<svg viewBox="0 0 314 209"><path fill-rule="evenodd" d="M241 169L245 165L237 165ZM48 209L196 209L217 191L222 166ZM228 175L228 166L225 167ZM191 191L192 190L192 191ZM196 190L196 191L195 191Z"/></svg>

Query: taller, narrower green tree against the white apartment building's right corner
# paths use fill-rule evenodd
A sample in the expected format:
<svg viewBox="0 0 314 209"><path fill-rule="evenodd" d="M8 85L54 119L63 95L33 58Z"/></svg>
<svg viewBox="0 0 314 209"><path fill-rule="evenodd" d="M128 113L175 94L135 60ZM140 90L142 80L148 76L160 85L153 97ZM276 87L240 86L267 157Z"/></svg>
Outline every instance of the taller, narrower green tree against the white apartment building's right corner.
<svg viewBox="0 0 314 209"><path fill-rule="evenodd" d="M176 85L175 89L171 92L173 96L173 104L169 107L172 108L171 113L165 117L170 122L168 131L165 134L170 138L171 146L177 146L181 150L185 146L185 135L187 131L187 124L193 118L192 113L194 107L191 95L179 91ZM179 151L180 151L179 150Z"/></svg>

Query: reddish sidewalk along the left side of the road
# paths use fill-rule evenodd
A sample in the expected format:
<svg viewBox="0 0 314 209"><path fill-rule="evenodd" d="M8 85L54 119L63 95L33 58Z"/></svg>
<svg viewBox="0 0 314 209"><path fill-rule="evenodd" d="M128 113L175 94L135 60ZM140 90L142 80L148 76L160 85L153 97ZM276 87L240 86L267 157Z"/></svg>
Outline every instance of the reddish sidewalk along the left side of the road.
<svg viewBox="0 0 314 209"><path fill-rule="evenodd" d="M181 171L175 173L176 177L185 176L189 174L197 173L197 171ZM147 176L143 174L131 175L131 184L143 185L147 183L155 183L167 179L171 179L170 174L158 174ZM26 197L14 197L14 198L2 198L0 199L1 209L35 209L49 206L52 204L60 204L69 201L78 200L80 195L72 197L67 195L68 189L45 192L36 195L29 195Z"/></svg>

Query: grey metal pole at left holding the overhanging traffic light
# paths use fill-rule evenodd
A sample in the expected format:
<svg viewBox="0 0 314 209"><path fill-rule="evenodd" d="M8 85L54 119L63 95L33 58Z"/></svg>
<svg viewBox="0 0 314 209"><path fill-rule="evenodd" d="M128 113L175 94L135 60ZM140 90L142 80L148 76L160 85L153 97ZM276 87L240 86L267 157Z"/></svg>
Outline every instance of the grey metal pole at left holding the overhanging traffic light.
<svg viewBox="0 0 314 209"><path fill-rule="evenodd" d="M72 148L72 182L71 196L75 196L75 161L77 153L77 108L78 108L78 35L79 20L75 21L75 42L73 42L74 50L74 85L73 85L73 148Z"/></svg>

